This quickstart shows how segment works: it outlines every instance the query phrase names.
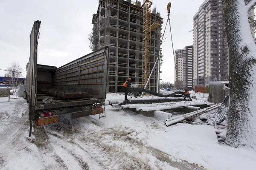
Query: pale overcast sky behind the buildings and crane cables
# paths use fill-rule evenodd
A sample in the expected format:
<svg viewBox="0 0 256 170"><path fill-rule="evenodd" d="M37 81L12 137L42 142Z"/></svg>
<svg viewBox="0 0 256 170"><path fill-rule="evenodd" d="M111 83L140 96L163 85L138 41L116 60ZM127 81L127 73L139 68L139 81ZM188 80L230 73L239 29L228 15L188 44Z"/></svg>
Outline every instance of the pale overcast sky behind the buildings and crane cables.
<svg viewBox="0 0 256 170"><path fill-rule="evenodd" d="M134 0L135 1L135 0ZM141 0L143 3L143 0ZM61 66L91 52L88 35L99 0L0 0L0 68L17 61L26 77L29 35L35 20L41 21L38 64ZM204 0L172 0L170 20L174 49L193 45L193 16ZM167 20L168 0L152 0ZM162 81L174 82L174 58L169 26L164 35ZM6 72L0 71L0 76Z"/></svg>

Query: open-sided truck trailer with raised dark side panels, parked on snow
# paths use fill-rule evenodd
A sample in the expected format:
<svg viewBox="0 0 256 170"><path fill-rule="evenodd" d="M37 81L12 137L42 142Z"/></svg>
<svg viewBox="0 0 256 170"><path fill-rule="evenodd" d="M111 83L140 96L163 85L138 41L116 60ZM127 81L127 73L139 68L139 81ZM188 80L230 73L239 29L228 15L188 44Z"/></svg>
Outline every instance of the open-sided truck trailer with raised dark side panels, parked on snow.
<svg viewBox="0 0 256 170"><path fill-rule="evenodd" d="M96 114L99 114L99 117L105 117L108 46L59 68L40 65L37 63L40 25L41 21L34 22L30 34L30 57L26 67L25 99L29 102L32 121L40 126ZM41 88L85 92L90 97L62 99L41 92ZM44 99L51 99L51 102L45 102Z"/></svg>

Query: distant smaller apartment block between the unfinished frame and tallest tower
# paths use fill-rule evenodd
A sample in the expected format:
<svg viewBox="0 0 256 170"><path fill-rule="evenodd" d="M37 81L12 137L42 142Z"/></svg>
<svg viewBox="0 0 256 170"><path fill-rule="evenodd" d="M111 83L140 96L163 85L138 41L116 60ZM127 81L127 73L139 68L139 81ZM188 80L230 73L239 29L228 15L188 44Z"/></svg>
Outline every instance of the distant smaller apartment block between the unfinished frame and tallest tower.
<svg viewBox="0 0 256 170"><path fill-rule="evenodd" d="M193 88L193 45L175 50L175 89Z"/></svg>

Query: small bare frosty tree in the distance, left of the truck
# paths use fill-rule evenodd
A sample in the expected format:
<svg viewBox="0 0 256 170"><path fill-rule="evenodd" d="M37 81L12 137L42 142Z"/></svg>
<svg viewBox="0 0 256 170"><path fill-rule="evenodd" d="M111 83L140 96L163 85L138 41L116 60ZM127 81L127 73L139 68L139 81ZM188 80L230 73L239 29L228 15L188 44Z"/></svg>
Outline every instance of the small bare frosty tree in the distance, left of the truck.
<svg viewBox="0 0 256 170"><path fill-rule="evenodd" d="M18 62L12 62L12 66L7 68L8 75L12 77L12 86L17 87L18 78L22 77L22 68Z"/></svg>

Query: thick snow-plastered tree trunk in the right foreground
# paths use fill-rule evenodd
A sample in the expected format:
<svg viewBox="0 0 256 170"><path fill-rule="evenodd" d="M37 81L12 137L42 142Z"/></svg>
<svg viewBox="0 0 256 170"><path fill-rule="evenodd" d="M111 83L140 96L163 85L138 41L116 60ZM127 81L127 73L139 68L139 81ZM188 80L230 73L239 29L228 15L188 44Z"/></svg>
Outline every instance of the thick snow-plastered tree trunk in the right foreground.
<svg viewBox="0 0 256 170"><path fill-rule="evenodd" d="M231 107L226 144L256 150L256 45L244 0L223 0L230 54Z"/></svg>

